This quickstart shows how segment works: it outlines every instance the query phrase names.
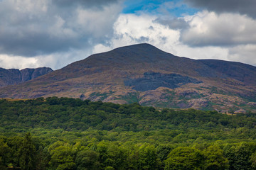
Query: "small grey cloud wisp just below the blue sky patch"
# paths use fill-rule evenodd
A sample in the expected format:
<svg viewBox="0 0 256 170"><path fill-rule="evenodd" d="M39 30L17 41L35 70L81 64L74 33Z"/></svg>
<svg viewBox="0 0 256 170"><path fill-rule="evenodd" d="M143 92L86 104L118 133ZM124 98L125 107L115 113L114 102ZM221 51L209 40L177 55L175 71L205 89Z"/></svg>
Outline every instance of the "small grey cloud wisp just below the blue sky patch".
<svg viewBox="0 0 256 170"><path fill-rule="evenodd" d="M169 26L169 28L174 30L188 28L188 23L184 21L183 18L171 18L171 19L156 18L154 22L160 23L164 26Z"/></svg>

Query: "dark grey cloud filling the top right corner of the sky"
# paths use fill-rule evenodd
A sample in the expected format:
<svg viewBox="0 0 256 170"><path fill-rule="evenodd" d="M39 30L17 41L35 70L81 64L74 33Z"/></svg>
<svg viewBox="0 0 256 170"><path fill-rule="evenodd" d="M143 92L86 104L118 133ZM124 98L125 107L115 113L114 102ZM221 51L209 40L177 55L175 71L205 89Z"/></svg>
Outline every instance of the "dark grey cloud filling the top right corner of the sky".
<svg viewBox="0 0 256 170"><path fill-rule="evenodd" d="M208 9L217 13L240 13L256 18L255 0L185 0L185 2L196 8Z"/></svg>

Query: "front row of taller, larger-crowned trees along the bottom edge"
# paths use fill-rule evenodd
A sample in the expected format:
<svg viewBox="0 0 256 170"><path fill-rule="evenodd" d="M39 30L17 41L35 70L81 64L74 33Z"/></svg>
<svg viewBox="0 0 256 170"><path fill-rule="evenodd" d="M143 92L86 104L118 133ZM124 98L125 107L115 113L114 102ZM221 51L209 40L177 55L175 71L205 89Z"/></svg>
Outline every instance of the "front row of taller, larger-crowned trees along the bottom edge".
<svg viewBox="0 0 256 170"><path fill-rule="evenodd" d="M170 144L1 137L0 169L256 169L256 143Z"/></svg>

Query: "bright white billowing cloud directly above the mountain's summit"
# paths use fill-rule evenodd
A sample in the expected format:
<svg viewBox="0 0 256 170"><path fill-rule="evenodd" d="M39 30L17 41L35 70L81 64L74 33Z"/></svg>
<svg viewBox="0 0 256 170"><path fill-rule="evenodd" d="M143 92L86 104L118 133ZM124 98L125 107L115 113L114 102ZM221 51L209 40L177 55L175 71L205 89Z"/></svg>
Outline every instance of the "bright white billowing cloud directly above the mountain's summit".
<svg viewBox="0 0 256 170"><path fill-rule="evenodd" d="M120 15L114 23L114 36L107 46L114 48L148 42L162 49L170 50L171 44L178 40L179 32L156 23L155 20L156 16L146 14L139 16L134 14Z"/></svg>

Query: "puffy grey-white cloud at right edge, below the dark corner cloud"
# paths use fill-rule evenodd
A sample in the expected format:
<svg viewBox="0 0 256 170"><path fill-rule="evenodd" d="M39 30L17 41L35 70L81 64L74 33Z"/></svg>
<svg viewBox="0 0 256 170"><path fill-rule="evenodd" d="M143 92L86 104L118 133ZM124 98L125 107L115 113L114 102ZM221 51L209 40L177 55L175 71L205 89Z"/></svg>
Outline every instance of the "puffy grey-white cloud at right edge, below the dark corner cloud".
<svg viewBox="0 0 256 170"><path fill-rule="evenodd" d="M198 12L185 17L181 42L193 47L256 44L256 21L234 13Z"/></svg>

